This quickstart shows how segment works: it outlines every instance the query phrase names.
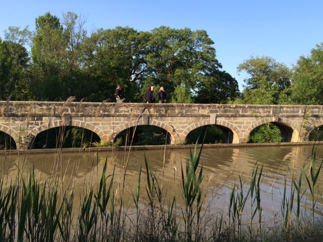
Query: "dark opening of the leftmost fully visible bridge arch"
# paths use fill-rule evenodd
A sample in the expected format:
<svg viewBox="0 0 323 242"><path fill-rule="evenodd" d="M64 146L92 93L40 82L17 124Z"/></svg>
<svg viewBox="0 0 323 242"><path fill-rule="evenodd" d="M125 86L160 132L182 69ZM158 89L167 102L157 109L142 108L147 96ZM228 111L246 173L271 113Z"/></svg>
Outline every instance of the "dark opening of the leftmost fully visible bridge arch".
<svg viewBox="0 0 323 242"><path fill-rule="evenodd" d="M100 140L91 130L77 126L58 126L39 132L31 139L28 148L88 148L98 146Z"/></svg>

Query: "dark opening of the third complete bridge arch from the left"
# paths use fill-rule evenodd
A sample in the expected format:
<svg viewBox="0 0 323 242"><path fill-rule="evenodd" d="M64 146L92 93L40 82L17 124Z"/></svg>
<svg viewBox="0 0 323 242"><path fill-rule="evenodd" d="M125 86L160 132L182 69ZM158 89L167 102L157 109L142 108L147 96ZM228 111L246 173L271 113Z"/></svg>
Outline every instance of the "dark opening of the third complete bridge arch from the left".
<svg viewBox="0 0 323 242"><path fill-rule="evenodd" d="M226 144L233 141L233 132L229 128L220 125L204 125L188 133L185 143L195 144L197 141L198 144L202 144L204 135L204 144Z"/></svg>

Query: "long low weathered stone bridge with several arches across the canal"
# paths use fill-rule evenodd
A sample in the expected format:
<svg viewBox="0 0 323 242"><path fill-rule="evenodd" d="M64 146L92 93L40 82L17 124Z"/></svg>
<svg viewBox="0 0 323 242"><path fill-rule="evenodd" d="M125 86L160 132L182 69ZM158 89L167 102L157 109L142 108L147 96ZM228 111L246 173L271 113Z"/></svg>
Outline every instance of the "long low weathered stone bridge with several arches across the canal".
<svg viewBox="0 0 323 242"><path fill-rule="evenodd" d="M92 102L0 101L0 131L10 135L17 149L26 149L40 132L61 126L88 129L112 142L123 130L136 125L159 127L171 144L182 144L194 129L219 127L226 143L246 143L256 127L273 123L284 142L307 141L309 133L323 125L323 106L146 104Z"/></svg>

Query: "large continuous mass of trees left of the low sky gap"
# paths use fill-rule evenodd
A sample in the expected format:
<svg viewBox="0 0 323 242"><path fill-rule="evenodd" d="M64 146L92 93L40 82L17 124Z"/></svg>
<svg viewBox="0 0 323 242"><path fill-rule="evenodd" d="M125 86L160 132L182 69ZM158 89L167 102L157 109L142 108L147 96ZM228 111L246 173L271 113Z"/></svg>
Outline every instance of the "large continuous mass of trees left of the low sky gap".
<svg viewBox="0 0 323 242"><path fill-rule="evenodd" d="M13 55L17 46L31 46L20 69L26 95L19 98L114 101L117 84L123 87L125 102L142 102L148 85L156 90L164 86L172 102L225 103L238 93L237 81L221 70L205 30L118 26L88 33L86 21L72 12L62 19L48 12L36 18L34 32L28 26L9 27L5 41L15 43L16 49L3 46L2 56ZM12 82L5 81L13 72L13 65L3 66L7 86L2 99L13 92Z"/></svg>

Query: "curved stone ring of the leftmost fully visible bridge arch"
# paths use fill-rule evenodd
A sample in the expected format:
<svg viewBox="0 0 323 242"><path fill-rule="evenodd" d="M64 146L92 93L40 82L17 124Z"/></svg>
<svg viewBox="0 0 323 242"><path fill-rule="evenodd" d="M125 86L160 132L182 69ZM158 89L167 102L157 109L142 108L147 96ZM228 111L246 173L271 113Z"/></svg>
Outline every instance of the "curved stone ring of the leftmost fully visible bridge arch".
<svg viewBox="0 0 323 242"><path fill-rule="evenodd" d="M69 125L63 125L62 120L56 120L56 121L44 124L44 125L38 127L37 129L34 128L31 131L30 135L28 136L28 139L30 140L29 146L31 146L29 148L35 147L35 144L34 144L35 139L37 138L37 136L39 134L41 134L43 132L49 131L50 129L62 128L62 130L64 130L65 128L70 129L73 127L88 130L93 133L94 138L98 137L100 140L102 140L102 138L96 132L100 133L101 136L103 135L103 132L91 124L86 124L86 123L80 122L78 120L74 120L74 121L72 120ZM93 141L90 141L90 142L92 143Z"/></svg>

